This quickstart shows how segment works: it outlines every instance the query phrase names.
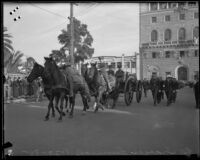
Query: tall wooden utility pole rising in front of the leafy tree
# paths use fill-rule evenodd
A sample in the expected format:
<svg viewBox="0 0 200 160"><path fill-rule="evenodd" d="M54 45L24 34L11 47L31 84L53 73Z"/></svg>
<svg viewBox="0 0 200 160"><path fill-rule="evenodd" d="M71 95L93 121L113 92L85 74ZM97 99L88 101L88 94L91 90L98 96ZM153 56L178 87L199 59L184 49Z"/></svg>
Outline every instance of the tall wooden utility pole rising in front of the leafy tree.
<svg viewBox="0 0 200 160"><path fill-rule="evenodd" d="M73 17L73 3L70 3L70 31L71 31L70 62L74 66L74 17Z"/></svg>

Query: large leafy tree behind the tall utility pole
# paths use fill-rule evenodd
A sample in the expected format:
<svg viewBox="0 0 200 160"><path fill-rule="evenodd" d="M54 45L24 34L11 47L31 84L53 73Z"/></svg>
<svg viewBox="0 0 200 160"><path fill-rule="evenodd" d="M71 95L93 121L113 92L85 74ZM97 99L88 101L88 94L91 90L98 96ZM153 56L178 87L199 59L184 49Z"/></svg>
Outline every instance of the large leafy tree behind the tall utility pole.
<svg viewBox="0 0 200 160"><path fill-rule="evenodd" d="M66 51L70 51L70 24L67 25L67 30L61 30L61 34L58 36L58 41L62 44L60 51L53 50L50 56L54 57L57 62L60 60L67 61L70 56L65 55ZM81 24L81 22L74 18L74 62L78 63L84 59L91 58L94 53L94 48L92 48L93 38L87 29L86 24Z"/></svg>

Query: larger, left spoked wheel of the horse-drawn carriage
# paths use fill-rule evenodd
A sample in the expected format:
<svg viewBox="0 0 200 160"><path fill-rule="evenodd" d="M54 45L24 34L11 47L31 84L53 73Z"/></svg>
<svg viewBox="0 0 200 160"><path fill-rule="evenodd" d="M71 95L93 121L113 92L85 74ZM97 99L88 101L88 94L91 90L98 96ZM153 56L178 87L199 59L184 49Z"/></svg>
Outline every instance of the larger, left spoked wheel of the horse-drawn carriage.
<svg viewBox="0 0 200 160"><path fill-rule="evenodd" d="M124 91L124 100L127 106L129 106L133 100L133 88L132 88L132 81L129 79L126 81L125 84L125 91Z"/></svg>

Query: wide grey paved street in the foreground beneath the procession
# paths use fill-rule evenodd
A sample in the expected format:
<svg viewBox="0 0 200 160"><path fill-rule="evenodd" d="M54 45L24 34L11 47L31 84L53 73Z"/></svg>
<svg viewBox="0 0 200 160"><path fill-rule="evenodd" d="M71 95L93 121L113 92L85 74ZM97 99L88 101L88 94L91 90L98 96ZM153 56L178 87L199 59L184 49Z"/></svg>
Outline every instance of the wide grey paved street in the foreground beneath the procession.
<svg viewBox="0 0 200 160"><path fill-rule="evenodd" d="M154 107L150 93L131 106L123 95L115 109L82 115L76 100L74 117L44 121L47 101L5 104L5 141L14 155L144 155L196 154L199 151L199 110L191 88L179 90L177 102L166 99ZM199 154L199 153L198 153Z"/></svg>

